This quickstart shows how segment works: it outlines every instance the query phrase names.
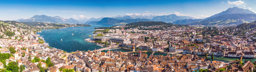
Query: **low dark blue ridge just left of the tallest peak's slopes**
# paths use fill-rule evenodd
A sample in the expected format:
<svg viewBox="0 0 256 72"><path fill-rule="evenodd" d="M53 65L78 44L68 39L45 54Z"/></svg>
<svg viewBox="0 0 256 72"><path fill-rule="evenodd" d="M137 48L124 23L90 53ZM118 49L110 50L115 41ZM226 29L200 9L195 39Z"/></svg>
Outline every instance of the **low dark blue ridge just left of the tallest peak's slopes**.
<svg viewBox="0 0 256 72"><path fill-rule="evenodd" d="M184 19L184 20L177 20L175 22L172 22L173 24L180 24L180 25L185 25L188 23L192 23L192 22L198 22L201 21L203 19Z"/></svg>

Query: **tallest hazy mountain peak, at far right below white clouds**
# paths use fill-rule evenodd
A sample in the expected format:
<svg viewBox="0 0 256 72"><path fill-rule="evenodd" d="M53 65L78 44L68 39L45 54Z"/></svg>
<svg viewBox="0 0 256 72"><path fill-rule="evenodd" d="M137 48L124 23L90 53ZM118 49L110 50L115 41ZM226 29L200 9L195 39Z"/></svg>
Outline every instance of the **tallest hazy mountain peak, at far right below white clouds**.
<svg viewBox="0 0 256 72"><path fill-rule="evenodd" d="M210 17L206 18L206 19L217 17L217 16L221 16L221 15L225 15L225 14L243 14L243 13L256 14L253 11L248 10L248 9L233 7L233 8L228 8L226 11L223 11L221 13L215 14L213 16L210 16Z"/></svg>

